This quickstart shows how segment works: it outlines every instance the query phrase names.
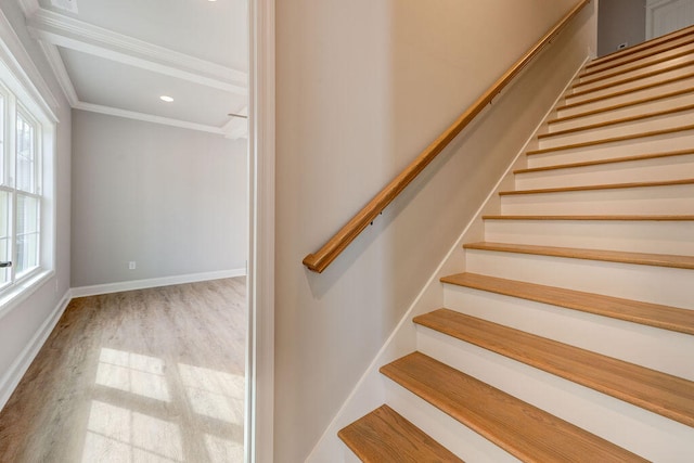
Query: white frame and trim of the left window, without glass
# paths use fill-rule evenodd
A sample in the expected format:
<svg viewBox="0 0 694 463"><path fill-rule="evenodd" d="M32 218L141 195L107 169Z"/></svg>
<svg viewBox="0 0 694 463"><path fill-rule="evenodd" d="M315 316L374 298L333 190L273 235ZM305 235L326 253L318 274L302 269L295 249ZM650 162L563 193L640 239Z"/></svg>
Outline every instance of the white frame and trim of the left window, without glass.
<svg viewBox="0 0 694 463"><path fill-rule="evenodd" d="M7 18L0 14L0 23L5 23ZM2 26L2 24L0 24ZM4 191L15 190L16 172L15 166L9 160L10 156L15 156L16 138L16 115L21 114L24 119L35 127L35 190L30 196L39 197L39 250L38 267L16 278L16 193L13 195L11 222L13 236L13 267L11 267L11 278L9 284L0 286L0 318L4 317L20 303L40 288L50 278L55 274L55 151L56 151L56 124L52 107L56 107L55 100L50 91L47 91L46 82L42 81L34 63L28 57L28 53L21 44L11 28L0 27L0 93L5 99L3 107L4 116L2 128L4 131L4 143L2 150L5 153L5 165L3 166L4 178L0 179L0 189ZM29 77L31 76L31 77ZM41 90L39 90L41 89ZM44 98L47 95L47 98ZM49 104L50 101L52 104ZM17 113L18 112L18 113ZM12 141L11 141L12 140ZM9 173L9 172L12 173ZM13 177L10 179L9 177ZM22 194L25 194L22 192Z"/></svg>

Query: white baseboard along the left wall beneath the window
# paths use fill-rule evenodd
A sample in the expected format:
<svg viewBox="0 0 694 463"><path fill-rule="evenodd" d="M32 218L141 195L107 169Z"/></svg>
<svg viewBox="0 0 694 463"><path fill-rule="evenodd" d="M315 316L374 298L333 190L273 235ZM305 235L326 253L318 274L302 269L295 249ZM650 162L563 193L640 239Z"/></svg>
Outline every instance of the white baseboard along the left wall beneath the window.
<svg viewBox="0 0 694 463"><path fill-rule="evenodd" d="M22 381L22 377L31 365L31 362L43 347L43 344L48 339L57 321L63 316L63 312L67 308L67 305L72 300L70 291L68 290L61 301L55 306L51 316L46 319L41 327L36 332L29 344L22 350L22 353L12 363L9 371L0 378L0 410L4 408L14 393L14 389Z"/></svg>

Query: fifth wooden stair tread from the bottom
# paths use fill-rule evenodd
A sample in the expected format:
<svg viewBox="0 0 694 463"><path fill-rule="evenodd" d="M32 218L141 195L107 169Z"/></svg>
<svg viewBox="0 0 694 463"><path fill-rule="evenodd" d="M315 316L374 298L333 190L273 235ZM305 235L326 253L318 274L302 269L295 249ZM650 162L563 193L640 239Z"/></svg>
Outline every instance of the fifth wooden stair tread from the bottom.
<svg viewBox="0 0 694 463"><path fill-rule="evenodd" d="M694 270L694 256L670 254L628 253L607 249L581 249L576 247L536 246L512 243L468 243L465 249L494 250L500 253L531 254L536 256L564 257L569 259L601 260L640 266L670 267Z"/></svg>

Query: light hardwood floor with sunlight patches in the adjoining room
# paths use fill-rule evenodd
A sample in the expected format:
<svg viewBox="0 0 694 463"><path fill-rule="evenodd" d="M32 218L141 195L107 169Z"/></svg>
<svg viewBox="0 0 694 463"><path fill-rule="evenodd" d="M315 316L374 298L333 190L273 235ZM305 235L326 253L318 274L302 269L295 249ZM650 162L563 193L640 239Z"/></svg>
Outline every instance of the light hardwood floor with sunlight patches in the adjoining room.
<svg viewBox="0 0 694 463"><path fill-rule="evenodd" d="M245 279L74 299L0 412L0 462L243 460Z"/></svg>

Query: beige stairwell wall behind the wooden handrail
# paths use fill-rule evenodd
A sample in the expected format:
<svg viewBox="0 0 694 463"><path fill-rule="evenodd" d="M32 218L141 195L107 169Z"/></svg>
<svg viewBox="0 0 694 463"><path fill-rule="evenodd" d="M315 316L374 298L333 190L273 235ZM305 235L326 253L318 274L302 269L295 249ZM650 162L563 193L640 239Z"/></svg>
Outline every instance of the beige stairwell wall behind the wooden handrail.
<svg viewBox="0 0 694 463"><path fill-rule="evenodd" d="M274 454L304 461L593 41L544 60L322 274L301 266L576 3L277 3ZM570 52L570 53L569 53ZM571 61L573 60L573 61Z"/></svg>

